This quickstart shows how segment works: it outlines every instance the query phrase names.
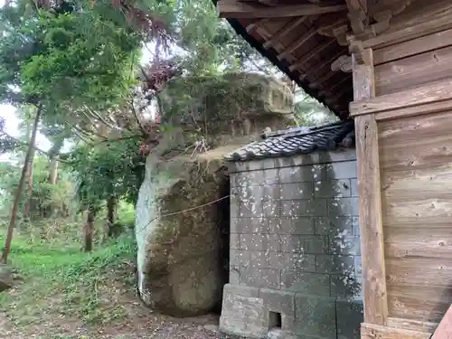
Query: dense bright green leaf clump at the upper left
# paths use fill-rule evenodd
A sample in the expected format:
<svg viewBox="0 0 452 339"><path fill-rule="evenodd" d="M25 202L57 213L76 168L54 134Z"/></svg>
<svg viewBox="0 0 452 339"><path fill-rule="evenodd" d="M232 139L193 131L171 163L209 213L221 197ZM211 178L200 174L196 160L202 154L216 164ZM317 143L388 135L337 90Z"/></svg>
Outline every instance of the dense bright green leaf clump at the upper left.
<svg viewBox="0 0 452 339"><path fill-rule="evenodd" d="M72 109L83 104L108 108L127 96L139 36L92 14L41 11L24 30L40 42L39 53L21 67L25 96Z"/></svg>

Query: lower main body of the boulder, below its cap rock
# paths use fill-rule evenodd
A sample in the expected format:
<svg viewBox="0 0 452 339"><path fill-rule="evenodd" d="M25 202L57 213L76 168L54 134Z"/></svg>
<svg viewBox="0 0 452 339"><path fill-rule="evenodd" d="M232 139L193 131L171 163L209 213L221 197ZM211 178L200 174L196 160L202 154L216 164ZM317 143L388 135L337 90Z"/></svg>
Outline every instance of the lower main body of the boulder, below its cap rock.
<svg viewBox="0 0 452 339"><path fill-rule="evenodd" d="M140 295L159 312L201 315L221 300L221 220L211 202L221 198L222 158L235 147L147 158L137 202L137 266Z"/></svg>

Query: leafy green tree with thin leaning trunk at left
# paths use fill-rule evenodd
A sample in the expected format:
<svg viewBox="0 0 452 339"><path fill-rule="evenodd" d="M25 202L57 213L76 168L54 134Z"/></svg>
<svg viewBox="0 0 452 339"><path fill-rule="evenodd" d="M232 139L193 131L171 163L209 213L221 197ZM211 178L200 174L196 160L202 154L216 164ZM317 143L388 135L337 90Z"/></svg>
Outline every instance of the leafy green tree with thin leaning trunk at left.
<svg viewBox="0 0 452 339"><path fill-rule="evenodd" d="M4 261L41 118L46 125L90 129L87 112L107 112L130 93L135 81L130 71L143 40L143 33L126 24L111 4L96 2L90 8L88 3L63 1L24 15L25 3L0 9L0 103L37 108Z"/></svg>

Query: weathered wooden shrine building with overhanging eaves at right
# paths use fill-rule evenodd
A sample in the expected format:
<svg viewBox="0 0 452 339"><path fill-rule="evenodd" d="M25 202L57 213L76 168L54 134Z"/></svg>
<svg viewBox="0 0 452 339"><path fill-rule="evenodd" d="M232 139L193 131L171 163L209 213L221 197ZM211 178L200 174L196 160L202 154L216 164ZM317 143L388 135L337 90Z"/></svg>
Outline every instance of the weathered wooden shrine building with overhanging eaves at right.
<svg viewBox="0 0 452 339"><path fill-rule="evenodd" d="M452 1L216 5L308 94L354 119L362 338L452 338Z"/></svg>

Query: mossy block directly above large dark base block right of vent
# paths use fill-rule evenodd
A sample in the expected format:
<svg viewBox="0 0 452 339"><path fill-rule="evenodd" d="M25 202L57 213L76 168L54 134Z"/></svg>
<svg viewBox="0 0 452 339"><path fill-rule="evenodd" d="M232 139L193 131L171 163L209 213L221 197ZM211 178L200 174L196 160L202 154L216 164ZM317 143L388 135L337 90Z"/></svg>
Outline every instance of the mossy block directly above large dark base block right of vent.
<svg viewBox="0 0 452 339"><path fill-rule="evenodd" d="M322 273L299 272L292 269L281 273L281 288L309 295L330 296L330 276Z"/></svg>

